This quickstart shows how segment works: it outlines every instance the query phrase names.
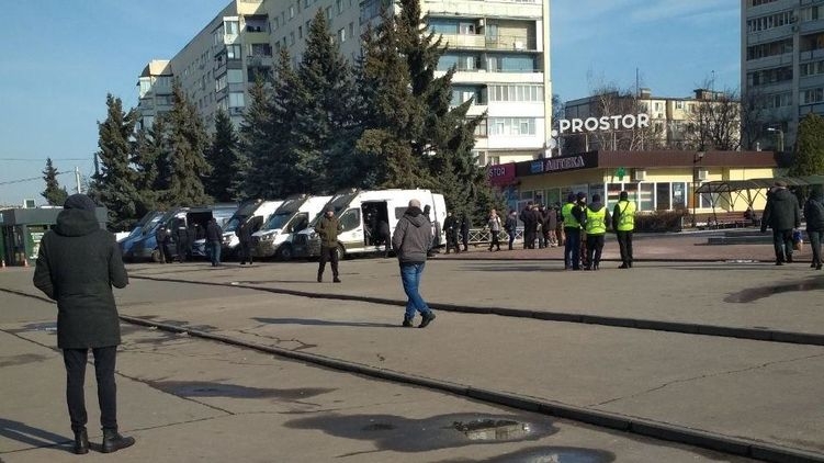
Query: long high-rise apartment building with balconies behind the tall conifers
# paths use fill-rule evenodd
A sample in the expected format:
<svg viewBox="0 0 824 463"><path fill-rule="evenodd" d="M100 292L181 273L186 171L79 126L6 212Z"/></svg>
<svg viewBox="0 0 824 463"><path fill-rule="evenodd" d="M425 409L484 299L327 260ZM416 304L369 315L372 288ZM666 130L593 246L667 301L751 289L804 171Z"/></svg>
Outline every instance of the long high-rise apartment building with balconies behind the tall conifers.
<svg viewBox="0 0 824 463"><path fill-rule="evenodd" d="M144 125L167 106L171 77L207 126L223 108L239 124L258 72L272 69L274 52L301 60L318 10L341 53L354 60L365 25L380 20L387 0L233 0L165 66L140 76ZM397 8L397 7L395 7ZM476 133L478 162L533 159L546 148L552 124L549 0L421 0L430 29L449 49L438 72L451 67L453 103L474 98L470 115L486 113ZM163 87L166 86L166 87Z"/></svg>

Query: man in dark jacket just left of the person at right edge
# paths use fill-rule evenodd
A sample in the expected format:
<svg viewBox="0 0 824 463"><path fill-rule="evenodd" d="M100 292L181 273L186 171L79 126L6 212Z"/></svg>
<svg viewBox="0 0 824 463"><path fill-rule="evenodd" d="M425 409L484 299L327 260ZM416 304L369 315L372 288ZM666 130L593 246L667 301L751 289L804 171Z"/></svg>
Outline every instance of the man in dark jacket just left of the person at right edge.
<svg viewBox="0 0 824 463"><path fill-rule="evenodd" d="M761 233L772 228L772 246L776 249L776 266L792 262L792 229L801 226L799 200L787 183L777 181L767 193L767 206L764 208Z"/></svg>

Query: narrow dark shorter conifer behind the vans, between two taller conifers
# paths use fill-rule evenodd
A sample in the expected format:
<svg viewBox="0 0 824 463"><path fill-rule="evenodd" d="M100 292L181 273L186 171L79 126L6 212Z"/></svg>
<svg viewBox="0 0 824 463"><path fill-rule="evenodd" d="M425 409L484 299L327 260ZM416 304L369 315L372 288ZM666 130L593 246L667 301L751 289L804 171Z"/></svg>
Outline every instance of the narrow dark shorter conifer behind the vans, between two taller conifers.
<svg viewBox="0 0 824 463"><path fill-rule="evenodd" d="M225 111L218 110L215 115L215 134L212 146L206 151L206 161L212 166L212 173L203 179L206 194L217 202L230 202L233 180L237 177L234 170L238 163L238 139L232 120Z"/></svg>

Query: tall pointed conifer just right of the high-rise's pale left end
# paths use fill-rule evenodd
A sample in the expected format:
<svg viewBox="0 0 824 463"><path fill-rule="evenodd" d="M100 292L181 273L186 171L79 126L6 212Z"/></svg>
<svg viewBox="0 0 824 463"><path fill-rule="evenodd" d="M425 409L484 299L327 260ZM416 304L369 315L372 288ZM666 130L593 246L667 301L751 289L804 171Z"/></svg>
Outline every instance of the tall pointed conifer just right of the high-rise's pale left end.
<svg viewBox="0 0 824 463"><path fill-rule="evenodd" d="M174 102L168 113L168 143L171 149L168 201L177 205L211 203L212 199L204 192L201 180L212 171L204 157L208 135L197 110L178 81L172 84L172 95Z"/></svg>

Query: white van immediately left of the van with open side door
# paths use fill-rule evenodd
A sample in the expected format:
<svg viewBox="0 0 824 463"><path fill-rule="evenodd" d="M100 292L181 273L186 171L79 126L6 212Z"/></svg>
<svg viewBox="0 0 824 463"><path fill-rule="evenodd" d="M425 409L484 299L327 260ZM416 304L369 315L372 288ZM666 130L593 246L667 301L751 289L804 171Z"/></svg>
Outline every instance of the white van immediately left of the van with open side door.
<svg viewBox="0 0 824 463"><path fill-rule="evenodd" d="M300 195L290 197L278 207L262 227L252 235L252 249L257 257L290 260L292 237L306 229L332 196Z"/></svg>

